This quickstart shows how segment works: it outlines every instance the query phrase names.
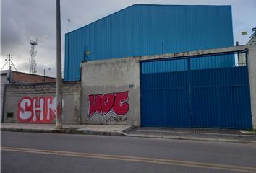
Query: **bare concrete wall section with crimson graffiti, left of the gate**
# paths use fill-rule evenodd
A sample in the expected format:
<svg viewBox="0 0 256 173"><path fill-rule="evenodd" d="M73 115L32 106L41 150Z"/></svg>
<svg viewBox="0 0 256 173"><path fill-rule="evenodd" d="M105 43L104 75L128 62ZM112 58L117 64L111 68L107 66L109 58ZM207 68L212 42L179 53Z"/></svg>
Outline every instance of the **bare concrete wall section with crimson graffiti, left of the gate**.
<svg viewBox="0 0 256 173"><path fill-rule="evenodd" d="M81 67L82 123L140 126L140 61L116 58Z"/></svg>

